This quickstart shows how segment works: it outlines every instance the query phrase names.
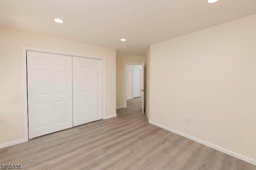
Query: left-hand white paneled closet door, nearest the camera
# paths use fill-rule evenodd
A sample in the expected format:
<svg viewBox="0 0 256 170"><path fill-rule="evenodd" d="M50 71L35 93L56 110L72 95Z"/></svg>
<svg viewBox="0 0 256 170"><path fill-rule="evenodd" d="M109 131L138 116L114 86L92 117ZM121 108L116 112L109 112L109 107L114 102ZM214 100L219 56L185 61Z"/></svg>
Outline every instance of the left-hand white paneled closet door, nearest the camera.
<svg viewBox="0 0 256 170"><path fill-rule="evenodd" d="M73 126L72 57L27 51L29 138Z"/></svg>

